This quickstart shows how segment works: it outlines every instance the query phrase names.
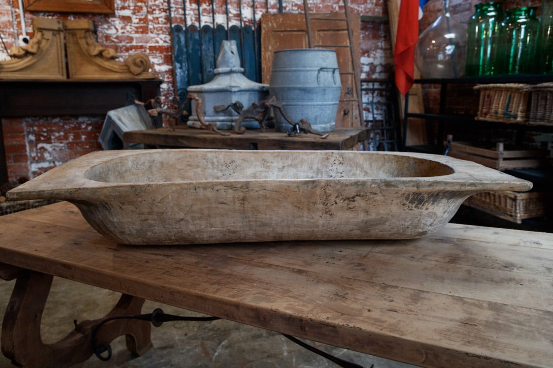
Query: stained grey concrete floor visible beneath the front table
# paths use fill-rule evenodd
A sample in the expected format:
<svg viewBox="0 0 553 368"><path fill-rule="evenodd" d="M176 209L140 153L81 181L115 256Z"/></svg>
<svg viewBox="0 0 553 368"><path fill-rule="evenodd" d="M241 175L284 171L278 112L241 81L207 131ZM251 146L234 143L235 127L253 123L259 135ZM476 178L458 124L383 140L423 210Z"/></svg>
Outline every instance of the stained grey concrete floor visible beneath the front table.
<svg viewBox="0 0 553 368"><path fill-rule="evenodd" d="M4 315L15 281L0 280L0 314ZM44 343L53 343L73 328L73 321L95 319L105 315L115 305L120 294L97 287L54 278L46 302L41 334ZM142 312L161 308L179 316L199 314L151 301ZM152 330L153 348L134 357L126 350L124 337L111 344L112 359L103 362L92 356L77 367L337 367L282 335L244 324L217 320L210 322L166 322ZM315 342L312 346L364 367L413 367L399 362L335 348ZM0 356L0 367L12 367Z"/></svg>

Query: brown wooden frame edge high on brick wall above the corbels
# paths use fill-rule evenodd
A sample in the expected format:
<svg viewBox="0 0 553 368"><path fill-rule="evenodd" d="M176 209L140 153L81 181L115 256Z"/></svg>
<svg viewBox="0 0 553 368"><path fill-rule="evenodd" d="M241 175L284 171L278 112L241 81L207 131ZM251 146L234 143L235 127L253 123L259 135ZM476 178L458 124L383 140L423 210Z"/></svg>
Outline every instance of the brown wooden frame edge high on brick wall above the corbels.
<svg viewBox="0 0 553 368"><path fill-rule="evenodd" d="M25 10L33 12L102 13L115 12L114 0L23 0Z"/></svg>

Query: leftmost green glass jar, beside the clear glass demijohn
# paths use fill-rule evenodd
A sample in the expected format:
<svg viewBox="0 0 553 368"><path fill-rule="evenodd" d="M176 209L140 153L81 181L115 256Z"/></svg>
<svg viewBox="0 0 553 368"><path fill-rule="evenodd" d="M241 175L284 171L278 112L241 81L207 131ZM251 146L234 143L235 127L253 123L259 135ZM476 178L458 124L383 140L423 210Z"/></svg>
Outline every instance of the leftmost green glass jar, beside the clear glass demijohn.
<svg viewBox="0 0 553 368"><path fill-rule="evenodd" d="M467 77L497 75L500 25L505 19L503 3L476 4L467 25Z"/></svg>

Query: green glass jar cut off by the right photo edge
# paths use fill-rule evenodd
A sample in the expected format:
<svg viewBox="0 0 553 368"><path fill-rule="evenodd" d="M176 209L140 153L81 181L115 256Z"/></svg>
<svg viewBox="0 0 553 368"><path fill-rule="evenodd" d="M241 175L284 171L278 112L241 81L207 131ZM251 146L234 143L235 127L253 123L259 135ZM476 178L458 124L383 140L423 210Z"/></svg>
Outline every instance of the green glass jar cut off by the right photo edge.
<svg viewBox="0 0 553 368"><path fill-rule="evenodd" d="M541 2L538 63L538 72L553 74L553 0Z"/></svg>

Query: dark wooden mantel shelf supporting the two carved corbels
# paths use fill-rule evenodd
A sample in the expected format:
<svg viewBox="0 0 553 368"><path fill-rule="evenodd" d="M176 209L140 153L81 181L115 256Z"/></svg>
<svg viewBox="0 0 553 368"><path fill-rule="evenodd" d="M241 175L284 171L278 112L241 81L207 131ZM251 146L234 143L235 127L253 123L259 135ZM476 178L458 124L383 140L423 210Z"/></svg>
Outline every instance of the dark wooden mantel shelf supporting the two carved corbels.
<svg viewBox="0 0 553 368"><path fill-rule="evenodd" d="M0 80L0 117L104 115L125 106L128 94L142 101L155 97L161 82Z"/></svg>

